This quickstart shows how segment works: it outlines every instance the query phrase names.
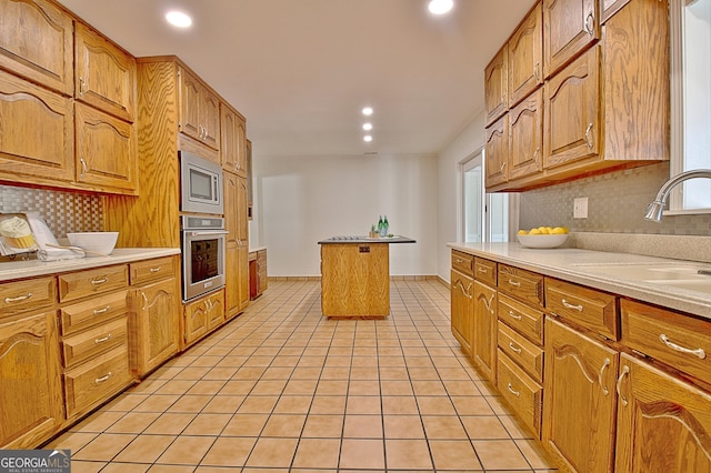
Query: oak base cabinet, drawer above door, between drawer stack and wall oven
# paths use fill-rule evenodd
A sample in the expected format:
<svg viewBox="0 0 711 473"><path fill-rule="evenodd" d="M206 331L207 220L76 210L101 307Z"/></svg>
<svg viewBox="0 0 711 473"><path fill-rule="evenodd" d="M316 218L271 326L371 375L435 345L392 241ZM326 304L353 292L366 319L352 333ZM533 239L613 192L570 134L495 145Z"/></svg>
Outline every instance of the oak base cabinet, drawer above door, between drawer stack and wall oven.
<svg viewBox="0 0 711 473"><path fill-rule="evenodd" d="M180 259L129 264L131 372L143 378L180 350Z"/></svg>

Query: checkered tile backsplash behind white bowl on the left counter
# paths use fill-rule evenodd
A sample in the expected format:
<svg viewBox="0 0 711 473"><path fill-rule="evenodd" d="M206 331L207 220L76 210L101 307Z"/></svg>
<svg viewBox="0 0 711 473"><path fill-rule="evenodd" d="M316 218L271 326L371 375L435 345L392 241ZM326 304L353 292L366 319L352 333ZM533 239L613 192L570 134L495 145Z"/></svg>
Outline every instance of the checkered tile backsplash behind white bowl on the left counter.
<svg viewBox="0 0 711 473"><path fill-rule="evenodd" d="M0 185L1 213L27 211L39 212L56 238L103 230L103 204L98 195Z"/></svg>

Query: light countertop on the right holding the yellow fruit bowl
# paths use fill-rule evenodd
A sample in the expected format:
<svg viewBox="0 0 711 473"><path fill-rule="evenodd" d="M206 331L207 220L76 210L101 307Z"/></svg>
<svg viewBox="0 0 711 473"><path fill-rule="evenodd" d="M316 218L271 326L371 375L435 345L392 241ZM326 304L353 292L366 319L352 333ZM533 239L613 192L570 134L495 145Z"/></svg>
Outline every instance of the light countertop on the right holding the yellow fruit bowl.
<svg viewBox="0 0 711 473"><path fill-rule="evenodd" d="M561 248L528 249L519 243L448 243L449 248L511 264L547 276L711 319L711 293L644 282L614 274L600 274L591 266L669 264L711 270L710 263L633 253ZM711 278L711 276L709 276ZM711 283L711 282L710 282Z"/></svg>

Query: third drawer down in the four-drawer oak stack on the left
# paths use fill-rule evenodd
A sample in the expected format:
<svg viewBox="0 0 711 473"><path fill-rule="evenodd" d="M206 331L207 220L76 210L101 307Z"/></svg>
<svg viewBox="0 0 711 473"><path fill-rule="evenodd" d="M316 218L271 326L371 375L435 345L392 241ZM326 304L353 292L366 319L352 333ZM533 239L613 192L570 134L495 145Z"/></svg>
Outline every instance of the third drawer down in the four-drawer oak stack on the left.
<svg viewBox="0 0 711 473"><path fill-rule="evenodd" d="M128 316L62 340L64 368L74 366L114 346L128 343Z"/></svg>

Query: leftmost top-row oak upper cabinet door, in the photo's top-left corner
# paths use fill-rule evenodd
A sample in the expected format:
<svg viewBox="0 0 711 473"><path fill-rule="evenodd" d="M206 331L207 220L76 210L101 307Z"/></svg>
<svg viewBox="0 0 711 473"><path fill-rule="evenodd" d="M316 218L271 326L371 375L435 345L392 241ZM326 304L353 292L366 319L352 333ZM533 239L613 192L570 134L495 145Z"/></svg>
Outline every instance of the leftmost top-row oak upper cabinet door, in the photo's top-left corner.
<svg viewBox="0 0 711 473"><path fill-rule="evenodd" d="M47 0L0 0L0 68L71 95L71 17Z"/></svg>

